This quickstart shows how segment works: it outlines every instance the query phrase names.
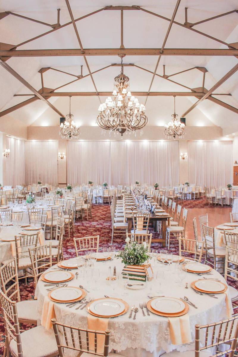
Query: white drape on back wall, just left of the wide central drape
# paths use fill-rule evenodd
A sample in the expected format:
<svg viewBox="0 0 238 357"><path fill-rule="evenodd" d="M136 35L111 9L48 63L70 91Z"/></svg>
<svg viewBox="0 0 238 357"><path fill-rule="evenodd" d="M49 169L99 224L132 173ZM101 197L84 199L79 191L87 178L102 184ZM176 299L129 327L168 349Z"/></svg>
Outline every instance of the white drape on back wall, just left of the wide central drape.
<svg viewBox="0 0 238 357"><path fill-rule="evenodd" d="M58 141L27 141L26 183L58 185Z"/></svg>

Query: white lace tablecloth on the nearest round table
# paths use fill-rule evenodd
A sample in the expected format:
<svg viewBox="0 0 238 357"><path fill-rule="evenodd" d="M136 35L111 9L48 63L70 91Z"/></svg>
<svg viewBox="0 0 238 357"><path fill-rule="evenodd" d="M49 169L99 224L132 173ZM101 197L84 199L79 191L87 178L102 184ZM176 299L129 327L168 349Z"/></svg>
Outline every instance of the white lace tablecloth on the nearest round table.
<svg viewBox="0 0 238 357"><path fill-rule="evenodd" d="M74 277L73 280L68 281L68 286L83 285L90 291L87 293L86 297L93 299L104 297L104 295L112 297L112 287L106 280L109 265L111 268L115 266L116 273L118 274L121 273L124 266L120 258L114 258L113 261L108 261L107 263L103 261L95 262L94 267L99 268L100 270L100 278L96 281L96 287L98 287L99 290L93 289L95 286L94 281L91 283L92 287L90 287L90 284L87 283L88 279L84 278L85 268L83 267L79 268L78 280ZM109 351L113 349L117 353L121 353L122 355L128 357L158 357L161 356L164 351L170 352L174 349L181 352L193 350L195 324L205 325L207 323L214 322L214 320L219 321L230 317L232 307L228 290L227 295L223 293L218 294L217 299L206 295L201 296L196 294L190 287L190 283L201 278L201 276L187 272L182 283L183 286L180 287L178 286L178 283L175 282L177 280L177 276L173 273L173 267L169 267L168 265L163 266L162 263L156 262L155 266L152 268L154 276L156 276L157 271L164 271L165 279L161 287L161 290L163 291L162 295L177 298L184 297L185 295L198 307L195 309L190 306L188 314L184 315L189 319L186 320L188 321L188 326L190 327L189 330L191 331L189 332L191 333L189 343L179 345L172 344L170 338L170 325L167 317L154 315L152 312L150 312L150 316L147 316L146 311L146 316L142 315L142 311L139 308L139 302L147 302L149 300L147 297L148 293L150 293L150 295L161 295L156 292L157 282L155 279L152 284L152 291L149 291L148 287L145 287L142 290L131 290L127 288L127 296L122 295L124 287L120 285L120 282L118 282L115 286L115 297L126 301L129 304L129 311L124 315L109 319L108 329L111 331ZM55 269L55 266L51 267L48 271L52 269ZM86 269L91 268L88 267ZM71 270L72 273L75 271L77 270ZM218 278L226 284L224 278L217 271L212 270L211 273L212 275L208 275L207 278ZM185 289L185 282L189 283L188 289ZM44 323L43 320L41 320L42 325L48 329L51 328L49 322L52 318L52 311L54 311L56 321L66 325L87 328L87 316L89 316L89 313L86 309L84 308L83 310L80 310L79 308L78 310L75 310L75 307L66 307L67 304L65 303L51 302L48 297L48 292L46 291L47 286L45 287L44 284L45 282L39 280L35 291L35 298L38 300L39 318L42 318L44 321L48 321L47 325L47 323ZM226 296L229 307L228 310L226 307ZM47 310L49 308L49 301L53 304L53 308ZM133 320L133 318L128 318L132 304L139 308L139 312L137 313L135 320ZM74 351L69 352L68 350L65 350L65 356L75 357L76 355L77 353Z"/></svg>

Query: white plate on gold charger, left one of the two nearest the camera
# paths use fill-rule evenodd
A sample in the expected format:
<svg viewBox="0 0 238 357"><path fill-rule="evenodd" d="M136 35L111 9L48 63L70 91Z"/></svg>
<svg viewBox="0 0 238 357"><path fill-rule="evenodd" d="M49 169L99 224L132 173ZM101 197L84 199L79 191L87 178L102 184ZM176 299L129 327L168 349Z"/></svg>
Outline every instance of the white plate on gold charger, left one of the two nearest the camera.
<svg viewBox="0 0 238 357"><path fill-rule="evenodd" d="M101 316L117 315L125 310L125 305L120 300L96 300L90 305L90 311Z"/></svg>

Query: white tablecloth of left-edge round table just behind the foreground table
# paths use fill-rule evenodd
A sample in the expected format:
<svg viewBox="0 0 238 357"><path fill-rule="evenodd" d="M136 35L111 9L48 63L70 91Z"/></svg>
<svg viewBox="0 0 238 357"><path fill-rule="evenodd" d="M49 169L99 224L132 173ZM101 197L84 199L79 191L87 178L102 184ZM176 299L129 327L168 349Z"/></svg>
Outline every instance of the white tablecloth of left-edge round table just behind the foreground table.
<svg viewBox="0 0 238 357"><path fill-rule="evenodd" d="M31 226L33 227L33 226ZM29 227L26 227L29 228ZM26 234L35 234L39 232L38 245L45 243L43 230L26 231L25 228L15 226L1 226L0 231L0 265L3 261L12 259L16 255L15 236L20 236L21 232ZM11 238L9 242L3 242L1 239Z"/></svg>

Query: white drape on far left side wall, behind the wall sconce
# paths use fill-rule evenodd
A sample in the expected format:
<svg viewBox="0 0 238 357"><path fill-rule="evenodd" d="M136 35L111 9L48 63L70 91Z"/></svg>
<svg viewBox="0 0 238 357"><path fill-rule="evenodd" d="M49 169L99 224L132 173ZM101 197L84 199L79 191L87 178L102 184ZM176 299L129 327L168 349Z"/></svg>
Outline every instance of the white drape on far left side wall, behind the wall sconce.
<svg viewBox="0 0 238 357"><path fill-rule="evenodd" d="M25 183L25 141L6 137L6 148L10 149L8 158L4 158L4 185L21 185Z"/></svg>

